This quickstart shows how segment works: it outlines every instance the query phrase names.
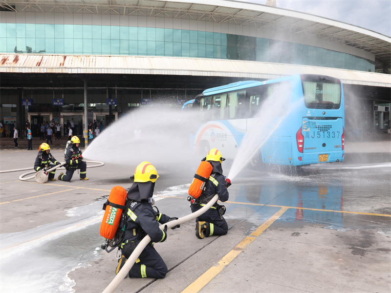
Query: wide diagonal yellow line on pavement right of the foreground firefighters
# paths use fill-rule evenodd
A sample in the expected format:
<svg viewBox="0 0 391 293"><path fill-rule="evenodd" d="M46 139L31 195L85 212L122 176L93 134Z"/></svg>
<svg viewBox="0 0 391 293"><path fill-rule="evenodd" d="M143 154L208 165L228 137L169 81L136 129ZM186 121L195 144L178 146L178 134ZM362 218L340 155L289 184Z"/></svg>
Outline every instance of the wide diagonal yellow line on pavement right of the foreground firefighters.
<svg viewBox="0 0 391 293"><path fill-rule="evenodd" d="M280 209L273 216L271 216L265 223L263 223L257 230L251 233L252 236L259 236L266 230L271 224L273 224L281 215L286 211L286 208ZM217 266L213 266L208 271L204 272L198 279L190 284L181 293L196 293L199 292L206 284L208 284L214 277L221 272L225 266L233 261L241 251L247 248L256 237L247 236L244 238L232 251L228 252L219 262Z"/></svg>

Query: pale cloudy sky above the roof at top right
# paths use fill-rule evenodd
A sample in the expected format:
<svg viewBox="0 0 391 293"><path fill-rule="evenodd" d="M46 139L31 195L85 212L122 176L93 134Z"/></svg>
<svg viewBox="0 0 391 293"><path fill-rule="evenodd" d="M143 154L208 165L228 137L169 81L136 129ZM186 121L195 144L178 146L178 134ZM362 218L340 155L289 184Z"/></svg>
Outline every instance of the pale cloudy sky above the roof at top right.
<svg viewBox="0 0 391 293"><path fill-rule="evenodd" d="M265 4L266 0L240 0ZM391 36L391 0L276 0L277 7L313 14Z"/></svg>

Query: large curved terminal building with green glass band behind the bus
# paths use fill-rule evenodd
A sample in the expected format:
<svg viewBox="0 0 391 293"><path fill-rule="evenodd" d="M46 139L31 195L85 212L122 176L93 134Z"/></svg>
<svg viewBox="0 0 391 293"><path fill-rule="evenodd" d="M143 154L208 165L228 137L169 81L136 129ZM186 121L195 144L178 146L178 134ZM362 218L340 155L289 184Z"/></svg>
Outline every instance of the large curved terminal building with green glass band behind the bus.
<svg viewBox="0 0 391 293"><path fill-rule="evenodd" d="M347 138L361 138L390 128L390 70L390 37L275 6L0 0L0 120L29 120L34 136L43 121L74 119L82 135L206 88L313 73L342 81Z"/></svg>

